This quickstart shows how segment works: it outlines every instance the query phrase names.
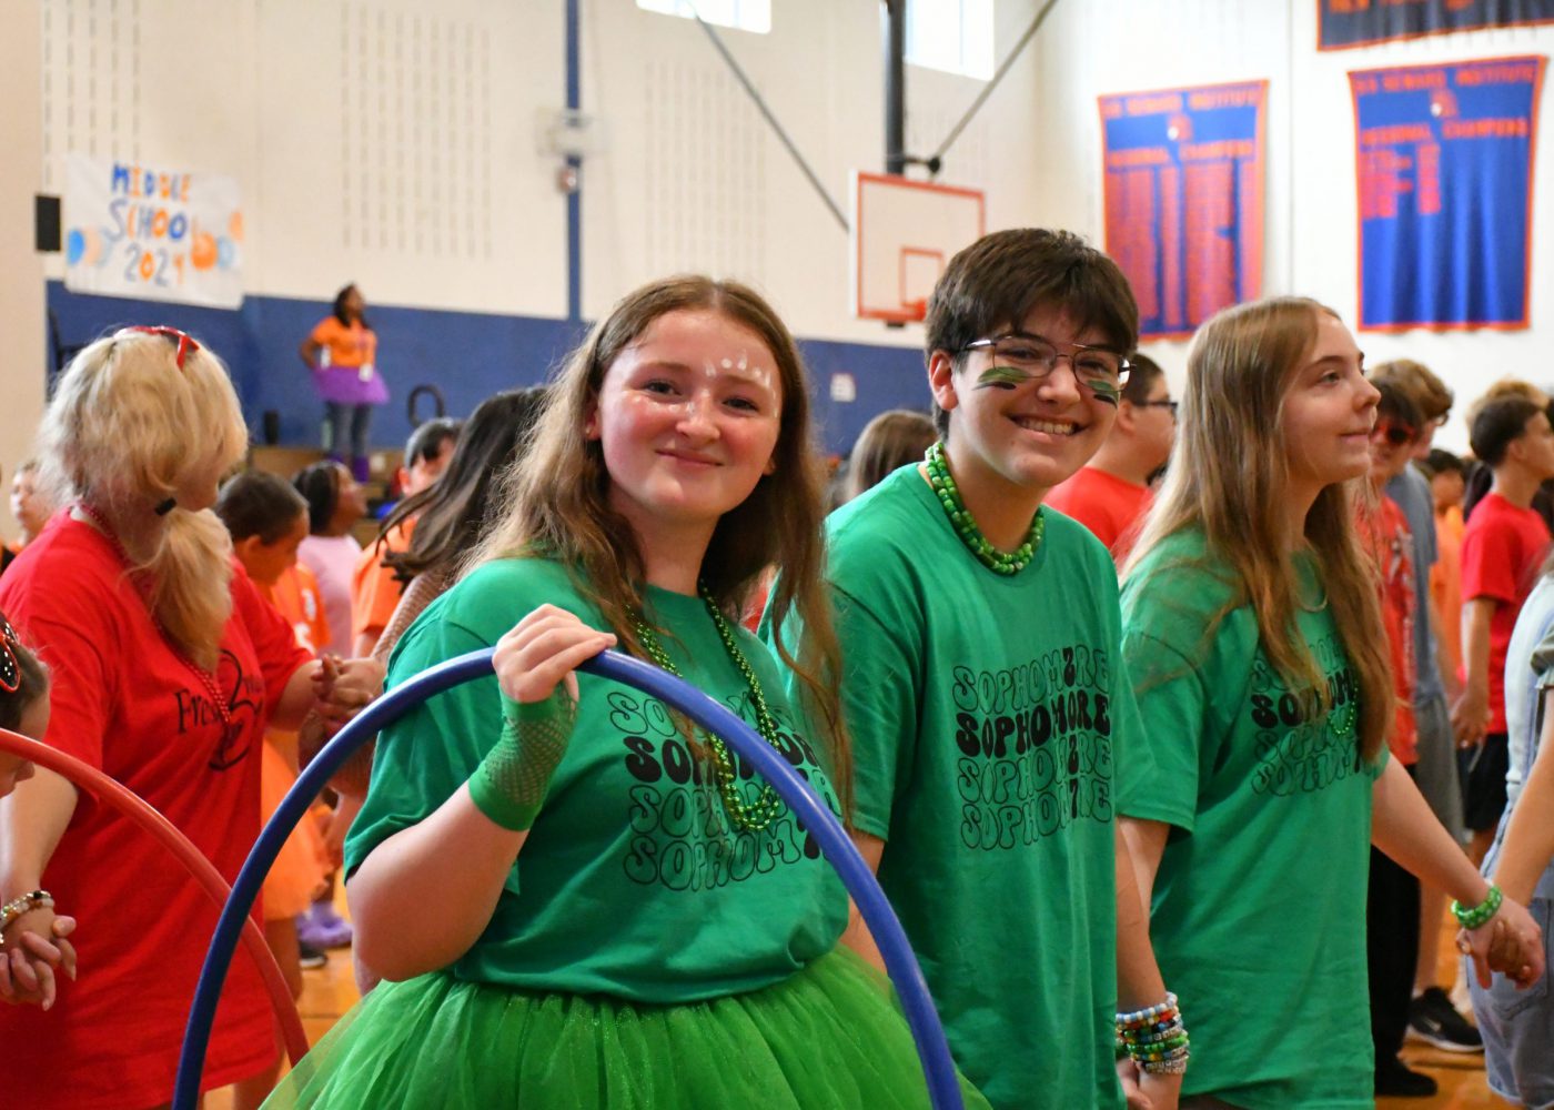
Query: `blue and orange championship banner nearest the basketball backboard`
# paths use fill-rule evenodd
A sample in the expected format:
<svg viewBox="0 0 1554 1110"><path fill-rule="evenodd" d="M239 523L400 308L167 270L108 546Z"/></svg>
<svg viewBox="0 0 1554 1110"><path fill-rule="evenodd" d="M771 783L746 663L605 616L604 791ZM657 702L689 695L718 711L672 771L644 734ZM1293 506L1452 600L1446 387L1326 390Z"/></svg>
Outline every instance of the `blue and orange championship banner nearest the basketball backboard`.
<svg viewBox="0 0 1554 1110"><path fill-rule="evenodd" d="M1106 253L1139 339L1181 339L1262 292L1267 81L1100 98Z"/></svg>

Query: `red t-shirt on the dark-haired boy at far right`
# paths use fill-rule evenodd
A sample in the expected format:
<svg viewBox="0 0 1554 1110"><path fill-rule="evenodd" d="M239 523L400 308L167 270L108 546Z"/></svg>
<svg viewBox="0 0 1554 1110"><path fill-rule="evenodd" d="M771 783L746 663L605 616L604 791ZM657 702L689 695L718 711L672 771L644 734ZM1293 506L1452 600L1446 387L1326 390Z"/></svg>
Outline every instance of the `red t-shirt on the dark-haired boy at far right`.
<svg viewBox="0 0 1554 1110"><path fill-rule="evenodd" d="M1462 602L1495 600L1489 619L1489 731L1506 731L1506 648L1517 614L1537 581L1549 530L1531 508L1490 493L1473 508L1462 532ZM1467 661L1464 659L1464 664Z"/></svg>

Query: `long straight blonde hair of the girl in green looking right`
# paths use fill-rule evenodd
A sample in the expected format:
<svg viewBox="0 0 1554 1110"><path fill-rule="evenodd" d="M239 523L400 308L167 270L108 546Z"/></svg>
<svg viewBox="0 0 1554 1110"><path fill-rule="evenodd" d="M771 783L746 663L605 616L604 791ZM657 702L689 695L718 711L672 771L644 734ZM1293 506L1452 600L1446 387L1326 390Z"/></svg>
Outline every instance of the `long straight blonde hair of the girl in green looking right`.
<svg viewBox="0 0 1554 1110"><path fill-rule="evenodd" d="M1355 535L1355 497L1364 479L1326 487L1305 516L1302 536L1288 535L1282 507L1288 468L1284 400L1310 359L1319 314L1304 297L1270 297L1228 308L1204 323L1187 358L1176 454L1124 574L1184 529L1201 529L1206 561L1228 563L1231 597L1207 622L1204 642L1234 609L1249 605L1268 661L1291 690L1332 692L1296 628L1302 539L1316 560L1338 637L1360 692L1360 746L1374 760L1394 717L1394 692L1372 561ZM1187 560L1176 566L1193 564Z"/></svg>

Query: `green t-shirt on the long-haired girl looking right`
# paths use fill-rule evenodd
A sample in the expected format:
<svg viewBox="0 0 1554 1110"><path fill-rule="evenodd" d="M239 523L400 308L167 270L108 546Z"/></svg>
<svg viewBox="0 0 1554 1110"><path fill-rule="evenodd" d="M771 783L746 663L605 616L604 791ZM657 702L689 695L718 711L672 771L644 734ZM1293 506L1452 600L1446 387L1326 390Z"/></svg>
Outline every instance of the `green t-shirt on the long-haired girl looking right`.
<svg viewBox="0 0 1554 1110"><path fill-rule="evenodd" d="M1371 1107L1371 785L1355 679L1315 563L1296 623L1332 710L1263 654L1229 567L1183 532L1128 575L1124 656L1159 774L1122 812L1172 827L1150 934L1192 1035L1186 1094L1251 1110ZM1380 634L1380 633L1377 633Z"/></svg>

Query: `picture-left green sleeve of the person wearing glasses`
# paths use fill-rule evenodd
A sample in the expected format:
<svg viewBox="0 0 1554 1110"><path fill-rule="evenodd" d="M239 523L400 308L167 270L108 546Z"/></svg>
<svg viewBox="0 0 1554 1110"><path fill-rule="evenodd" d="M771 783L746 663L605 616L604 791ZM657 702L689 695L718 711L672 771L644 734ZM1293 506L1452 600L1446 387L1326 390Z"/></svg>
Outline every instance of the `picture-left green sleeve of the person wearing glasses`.
<svg viewBox="0 0 1554 1110"><path fill-rule="evenodd" d="M890 628L850 594L833 588L842 642L842 717L853 751L853 827L889 839L897 796L917 759L918 682L904 628Z"/></svg>

